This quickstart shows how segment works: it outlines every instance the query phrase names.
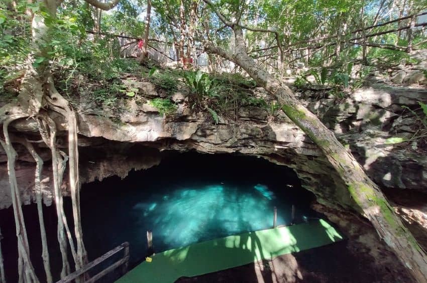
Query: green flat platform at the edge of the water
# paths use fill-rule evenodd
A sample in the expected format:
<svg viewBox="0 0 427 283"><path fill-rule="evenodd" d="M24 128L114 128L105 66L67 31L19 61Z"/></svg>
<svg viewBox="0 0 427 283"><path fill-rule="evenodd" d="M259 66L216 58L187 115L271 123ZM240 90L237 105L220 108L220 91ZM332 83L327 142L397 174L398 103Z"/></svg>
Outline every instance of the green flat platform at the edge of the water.
<svg viewBox="0 0 427 283"><path fill-rule="evenodd" d="M152 262L142 262L117 282L171 283L181 276L215 272L342 239L334 227L322 219L233 235L158 253Z"/></svg>

